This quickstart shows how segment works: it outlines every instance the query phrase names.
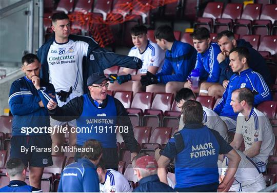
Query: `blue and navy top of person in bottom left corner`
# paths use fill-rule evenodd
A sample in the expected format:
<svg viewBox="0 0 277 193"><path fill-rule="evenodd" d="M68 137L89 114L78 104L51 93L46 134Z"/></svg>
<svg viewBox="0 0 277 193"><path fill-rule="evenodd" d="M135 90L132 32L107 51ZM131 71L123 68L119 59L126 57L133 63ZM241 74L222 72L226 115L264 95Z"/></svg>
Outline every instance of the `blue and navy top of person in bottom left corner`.
<svg viewBox="0 0 277 193"><path fill-rule="evenodd" d="M42 190L30 186L24 181L12 180L9 185L1 188L0 192L42 192Z"/></svg>

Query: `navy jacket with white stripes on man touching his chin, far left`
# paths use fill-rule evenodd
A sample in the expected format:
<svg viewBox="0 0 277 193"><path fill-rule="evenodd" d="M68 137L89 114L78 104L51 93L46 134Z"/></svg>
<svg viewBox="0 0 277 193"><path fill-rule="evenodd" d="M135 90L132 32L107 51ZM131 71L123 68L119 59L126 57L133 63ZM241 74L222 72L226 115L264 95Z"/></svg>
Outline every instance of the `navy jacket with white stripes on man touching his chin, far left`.
<svg viewBox="0 0 277 193"><path fill-rule="evenodd" d="M37 90L32 81L26 76L17 79L11 85L9 106L13 114L12 135L23 136L22 127L50 127L48 110L45 108L50 99L50 95L55 96L54 86L41 80L41 89ZM56 99L53 99L56 101ZM38 102L42 101L45 107L40 107ZM30 133L30 135L46 134Z"/></svg>

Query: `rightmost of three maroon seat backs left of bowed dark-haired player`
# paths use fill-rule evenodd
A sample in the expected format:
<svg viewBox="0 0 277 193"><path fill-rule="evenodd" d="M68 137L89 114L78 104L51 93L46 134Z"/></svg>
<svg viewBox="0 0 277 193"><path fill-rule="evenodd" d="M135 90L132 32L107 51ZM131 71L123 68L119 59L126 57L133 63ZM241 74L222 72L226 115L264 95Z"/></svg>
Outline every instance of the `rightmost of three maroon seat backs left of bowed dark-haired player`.
<svg viewBox="0 0 277 193"><path fill-rule="evenodd" d="M170 110L173 102L172 93L156 93L151 109L160 109L162 111Z"/></svg>

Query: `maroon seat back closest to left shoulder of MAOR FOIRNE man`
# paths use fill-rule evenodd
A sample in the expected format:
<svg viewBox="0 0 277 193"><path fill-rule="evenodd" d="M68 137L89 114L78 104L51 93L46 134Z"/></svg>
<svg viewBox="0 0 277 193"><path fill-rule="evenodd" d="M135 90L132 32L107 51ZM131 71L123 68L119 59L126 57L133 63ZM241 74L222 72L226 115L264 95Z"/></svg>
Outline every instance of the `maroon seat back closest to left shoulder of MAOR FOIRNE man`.
<svg viewBox="0 0 277 193"><path fill-rule="evenodd" d="M156 127L150 137L149 143L167 144L171 138L171 127Z"/></svg>

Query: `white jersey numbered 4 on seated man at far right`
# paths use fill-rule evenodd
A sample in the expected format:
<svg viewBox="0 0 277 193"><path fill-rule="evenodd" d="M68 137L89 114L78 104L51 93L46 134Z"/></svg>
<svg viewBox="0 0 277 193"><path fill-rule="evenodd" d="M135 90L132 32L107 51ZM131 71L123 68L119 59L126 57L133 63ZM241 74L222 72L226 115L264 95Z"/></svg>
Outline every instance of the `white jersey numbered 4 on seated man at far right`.
<svg viewBox="0 0 277 193"><path fill-rule="evenodd" d="M238 115L236 120L236 133L241 133L244 139L245 150L252 146L253 142L262 141L262 146L259 155L254 158L266 164L268 156L273 154L275 137L269 119L264 113L252 108L249 119L246 121L242 113Z"/></svg>

